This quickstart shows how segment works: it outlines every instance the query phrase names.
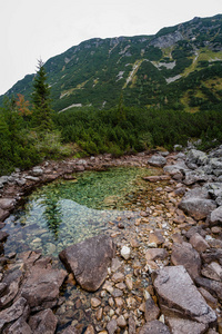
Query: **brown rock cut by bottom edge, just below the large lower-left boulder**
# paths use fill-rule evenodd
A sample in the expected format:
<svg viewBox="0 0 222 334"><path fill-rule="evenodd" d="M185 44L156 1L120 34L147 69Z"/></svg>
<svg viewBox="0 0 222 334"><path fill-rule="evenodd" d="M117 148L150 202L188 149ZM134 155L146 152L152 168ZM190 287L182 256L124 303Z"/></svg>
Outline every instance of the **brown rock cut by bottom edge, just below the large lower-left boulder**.
<svg viewBox="0 0 222 334"><path fill-rule="evenodd" d="M58 320L51 310L41 311L29 320L29 326L34 334L53 334L57 328Z"/></svg>

